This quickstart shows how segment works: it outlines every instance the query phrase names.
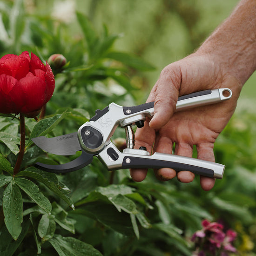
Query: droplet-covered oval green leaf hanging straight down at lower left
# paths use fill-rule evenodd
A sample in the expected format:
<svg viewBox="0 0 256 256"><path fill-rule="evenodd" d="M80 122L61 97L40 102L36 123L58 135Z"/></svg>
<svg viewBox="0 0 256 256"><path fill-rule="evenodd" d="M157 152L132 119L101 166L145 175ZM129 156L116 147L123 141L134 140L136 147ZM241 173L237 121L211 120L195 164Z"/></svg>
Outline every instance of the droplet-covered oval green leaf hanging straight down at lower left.
<svg viewBox="0 0 256 256"><path fill-rule="evenodd" d="M3 212L6 227L13 237L17 240L21 233L22 217L22 196L18 186L11 182L4 190Z"/></svg>

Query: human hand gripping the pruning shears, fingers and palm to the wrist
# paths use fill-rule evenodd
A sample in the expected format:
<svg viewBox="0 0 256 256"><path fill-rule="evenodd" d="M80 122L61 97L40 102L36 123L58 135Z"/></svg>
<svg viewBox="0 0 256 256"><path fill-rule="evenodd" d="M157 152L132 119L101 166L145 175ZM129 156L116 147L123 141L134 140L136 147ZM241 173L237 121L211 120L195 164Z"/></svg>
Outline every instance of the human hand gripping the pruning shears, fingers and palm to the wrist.
<svg viewBox="0 0 256 256"><path fill-rule="evenodd" d="M192 157L195 145L198 159L215 162L214 142L233 115L242 89L242 84L219 63L207 54L195 53L163 69L147 100L155 101L154 116L137 129L135 148L144 146L152 153L172 154L175 144L176 155ZM174 113L178 96L217 88L230 88L231 99ZM130 173L133 180L140 182L145 179L147 169L131 169ZM167 181L176 172L161 168L155 170L155 175ZM186 170L177 173L178 180L185 183L192 182L194 177ZM200 182L202 189L210 190L215 179L201 176Z"/></svg>

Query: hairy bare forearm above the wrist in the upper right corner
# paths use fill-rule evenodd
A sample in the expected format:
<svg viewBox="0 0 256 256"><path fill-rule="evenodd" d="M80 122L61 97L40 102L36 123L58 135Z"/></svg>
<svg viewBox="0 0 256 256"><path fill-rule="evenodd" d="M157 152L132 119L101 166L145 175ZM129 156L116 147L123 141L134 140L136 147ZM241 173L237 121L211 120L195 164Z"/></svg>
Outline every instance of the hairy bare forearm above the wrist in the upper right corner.
<svg viewBox="0 0 256 256"><path fill-rule="evenodd" d="M197 53L212 56L243 85L256 70L256 0L240 1Z"/></svg>

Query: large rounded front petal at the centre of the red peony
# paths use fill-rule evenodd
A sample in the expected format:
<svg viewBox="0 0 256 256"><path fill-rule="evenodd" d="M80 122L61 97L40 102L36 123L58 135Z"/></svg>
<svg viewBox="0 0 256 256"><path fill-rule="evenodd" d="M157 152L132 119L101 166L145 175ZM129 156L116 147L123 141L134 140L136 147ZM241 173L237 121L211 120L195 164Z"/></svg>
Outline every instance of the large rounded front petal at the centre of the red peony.
<svg viewBox="0 0 256 256"><path fill-rule="evenodd" d="M20 112L26 114L42 108L46 98L46 83L36 76L22 78L12 90L12 100L18 102Z"/></svg>

